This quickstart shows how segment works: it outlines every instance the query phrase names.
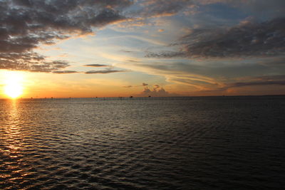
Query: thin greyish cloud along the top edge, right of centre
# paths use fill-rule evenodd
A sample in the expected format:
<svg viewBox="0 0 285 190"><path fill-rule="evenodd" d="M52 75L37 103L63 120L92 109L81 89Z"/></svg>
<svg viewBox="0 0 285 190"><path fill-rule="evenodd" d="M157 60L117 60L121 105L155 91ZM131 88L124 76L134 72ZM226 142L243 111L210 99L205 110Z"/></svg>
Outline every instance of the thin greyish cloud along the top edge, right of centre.
<svg viewBox="0 0 285 190"><path fill-rule="evenodd" d="M209 4L225 4L240 11L248 11L253 16L264 16L273 19L277 16L284 16L284 0L144 0L138 1L138 11L133 16L141 18L157 18L162 16L174 16L176 14L197 14L200 6Z"/></svg>

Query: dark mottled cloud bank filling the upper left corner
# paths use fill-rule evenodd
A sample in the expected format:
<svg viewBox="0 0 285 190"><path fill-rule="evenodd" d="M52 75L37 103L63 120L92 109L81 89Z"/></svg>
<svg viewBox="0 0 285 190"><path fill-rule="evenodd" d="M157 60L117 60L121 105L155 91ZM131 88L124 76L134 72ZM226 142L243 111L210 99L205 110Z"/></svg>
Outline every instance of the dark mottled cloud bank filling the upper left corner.
<svg viewBox="0 0 285 190"><path fill-rule="evenodd" d="M133 1L127 0L0 1L0 68L56 70L56 63L48 63L43 56L33 54L33 48L72 35L88 34L93 27L123 21L125 16L120 11L131 4Z"/></svg>

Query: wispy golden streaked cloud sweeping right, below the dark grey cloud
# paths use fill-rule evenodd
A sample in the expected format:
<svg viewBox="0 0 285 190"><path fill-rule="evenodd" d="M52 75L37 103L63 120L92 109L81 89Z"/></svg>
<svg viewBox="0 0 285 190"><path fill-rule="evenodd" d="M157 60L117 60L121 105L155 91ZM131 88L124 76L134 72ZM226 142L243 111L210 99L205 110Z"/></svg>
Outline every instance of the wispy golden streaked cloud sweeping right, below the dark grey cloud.
<svg viewBox="0 0 285 190"><path fill-rule="evenodd" d="M156 62L133 63L133 70L161 75L167 83L183 85L185 92L222 92L234 86L250 85L281 85L285 62L277 58L279 63L274 65L274 58L258 58L250 60L185 60L184 62L157 60ZM272 61L270 63L269 61ZM129 65L128 65L129 66ZM274 77L262 76L274 73ZM274 80L274 81L273 81ZM157 88L158 86L153 86ZM158 89L158 88L157 88ZM187 89L187 90L186 90ZM181 89L181 91L183 91ZM189 93L188 93L189 95Z"/></svg>

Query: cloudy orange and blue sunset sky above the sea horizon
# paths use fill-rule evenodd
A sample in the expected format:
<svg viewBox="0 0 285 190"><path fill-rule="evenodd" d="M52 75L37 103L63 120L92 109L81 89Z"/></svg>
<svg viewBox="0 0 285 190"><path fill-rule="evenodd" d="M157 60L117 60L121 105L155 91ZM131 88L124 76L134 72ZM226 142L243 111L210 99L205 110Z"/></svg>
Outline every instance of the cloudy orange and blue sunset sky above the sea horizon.
<svg viewBox="0 0 285 190"><path fill-rule="evenodd" d="M284 16L284 0L0 0L0 97L284 95Z"/></svg>

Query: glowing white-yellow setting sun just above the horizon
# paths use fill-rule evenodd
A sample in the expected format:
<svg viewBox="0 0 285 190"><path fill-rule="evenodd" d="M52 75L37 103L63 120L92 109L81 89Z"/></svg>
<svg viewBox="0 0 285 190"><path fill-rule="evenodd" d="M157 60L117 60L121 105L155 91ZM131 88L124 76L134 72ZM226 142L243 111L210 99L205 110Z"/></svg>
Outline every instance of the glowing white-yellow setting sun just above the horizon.
<svg viewBox="0 0 285 190"><path fill-rule="evenodd" d="M9 72L5 76L4 93L11 97L16 98L23 94L23 75L18 72Z"/></svg>

